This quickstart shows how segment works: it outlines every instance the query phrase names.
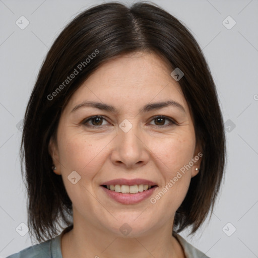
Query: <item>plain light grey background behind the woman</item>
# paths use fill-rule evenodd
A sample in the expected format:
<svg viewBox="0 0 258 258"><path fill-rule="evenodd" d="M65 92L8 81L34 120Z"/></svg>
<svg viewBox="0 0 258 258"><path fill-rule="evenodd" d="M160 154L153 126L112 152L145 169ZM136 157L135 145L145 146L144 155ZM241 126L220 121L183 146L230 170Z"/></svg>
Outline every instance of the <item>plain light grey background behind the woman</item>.
<svg viewBox="0 0 258 258"><path fill-rule="evenodd" d="M226 177L210 223L206 221L192 238L186 237L186 231L181 235L213 258L258 257L258 1L153 2L180 19L203 48L229 131ZM100 3L0 0L0 258L32 244L28 233L20 235L26 232L20 223L27 223L27 212L19 122L37 73L64 25ZM16 25L21 16L29 21L24 30ZM230 18L225 20L228 16L236 22L231 29L224 26L233 25Z"/></svg>

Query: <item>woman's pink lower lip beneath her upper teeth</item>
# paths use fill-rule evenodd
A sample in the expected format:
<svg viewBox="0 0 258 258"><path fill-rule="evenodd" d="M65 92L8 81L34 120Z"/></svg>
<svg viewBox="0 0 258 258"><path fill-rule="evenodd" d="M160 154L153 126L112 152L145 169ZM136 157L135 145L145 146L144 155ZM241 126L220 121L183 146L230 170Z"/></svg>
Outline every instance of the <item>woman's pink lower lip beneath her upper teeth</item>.
<svg viewBox="0 0 258 258"><path fill-rule="evenodd" d="M138 193L121 193L121 192L116 192L116 191L111 191L104 186L101 186L101 188L106 192L106 194L115 200L118 203L121 204L137 204L142 202L143 200L147 199L150 197L155 191L155 189L158 186L154 186L146 191L138 192Z"/></svg>

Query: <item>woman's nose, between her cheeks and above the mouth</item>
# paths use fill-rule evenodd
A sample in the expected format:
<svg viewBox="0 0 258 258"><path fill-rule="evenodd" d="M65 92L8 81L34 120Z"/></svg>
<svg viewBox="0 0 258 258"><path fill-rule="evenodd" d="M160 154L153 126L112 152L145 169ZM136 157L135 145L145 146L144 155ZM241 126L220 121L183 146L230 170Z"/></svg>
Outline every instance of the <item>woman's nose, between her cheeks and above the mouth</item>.
<svg viewBox="0 0 258 258"><path fill-rule="evenodd" d="M111 161L125 168L137 168L148 162L149 152L141 128L133 126L128 132L120 128L114 139Z"/></svg>

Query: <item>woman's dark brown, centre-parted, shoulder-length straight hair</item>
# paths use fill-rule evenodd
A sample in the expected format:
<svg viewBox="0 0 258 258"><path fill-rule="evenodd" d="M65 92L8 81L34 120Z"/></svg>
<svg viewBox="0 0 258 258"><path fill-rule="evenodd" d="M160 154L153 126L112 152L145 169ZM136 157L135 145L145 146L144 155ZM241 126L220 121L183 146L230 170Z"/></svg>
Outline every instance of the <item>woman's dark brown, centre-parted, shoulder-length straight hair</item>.
<svg viewBox="0 0 258 258"><path fill-rule="evenodd" d="M176 211L173 232L190 226L190 234L195 233L213 211L224 175L225 132L215 83L200 46L178 19L155 4L105 3L80 13L61 31L43 61L26 108L20 158L29 233L39 242L58 234L61 223L73 223L72 202L61 176L51 169L48 149L50 139L56 141L63 108L101 64L136 52L156 53L170 64L171 72L179 68L184 73L178 84L203 150L200 171L191 178ZM75 69L78 75L66 81Z"/></svg>

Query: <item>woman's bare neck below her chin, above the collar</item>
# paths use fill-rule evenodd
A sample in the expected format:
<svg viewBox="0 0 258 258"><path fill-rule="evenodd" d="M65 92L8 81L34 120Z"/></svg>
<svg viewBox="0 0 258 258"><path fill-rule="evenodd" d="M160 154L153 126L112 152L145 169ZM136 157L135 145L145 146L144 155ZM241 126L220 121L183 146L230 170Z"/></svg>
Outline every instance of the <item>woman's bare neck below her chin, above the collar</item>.
<svg viewBox="0 0 258 258"><path fill-rule="evenodd" d="M74 214L75 215L75 214ZM78 222L78 223L76 223ZM76 220L74 227L62 235L61 252L63 258L184 258L181 245L172 236L173 221L146 231L122 237L107 228Z"/></svg>

